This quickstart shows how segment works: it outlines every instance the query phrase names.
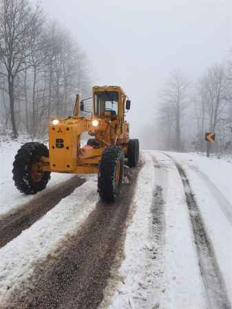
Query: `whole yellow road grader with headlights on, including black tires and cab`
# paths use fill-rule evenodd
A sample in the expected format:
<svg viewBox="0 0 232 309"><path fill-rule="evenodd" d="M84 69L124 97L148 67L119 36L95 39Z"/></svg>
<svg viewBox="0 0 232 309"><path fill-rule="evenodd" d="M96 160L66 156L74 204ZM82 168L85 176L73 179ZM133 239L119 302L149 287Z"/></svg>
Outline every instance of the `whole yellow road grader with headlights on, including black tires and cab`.
<svg viewBox="0 0 232 309"><path fill-rule="evenodd" d="M123 89L93 87L92 116L85 112L85 100L76 95L74 115L53 119L49 128L49 150L38 142L24 144L14 159L13 179L18 190L35 194L43 190L51 172L98 174L98 192L103 201L116 201L120 194L124 165L138 163L138 139L129 139L125 113L130 109ZM81 147L81 133L92 138ZM125 158L127 161L125 161Z"/></svg>

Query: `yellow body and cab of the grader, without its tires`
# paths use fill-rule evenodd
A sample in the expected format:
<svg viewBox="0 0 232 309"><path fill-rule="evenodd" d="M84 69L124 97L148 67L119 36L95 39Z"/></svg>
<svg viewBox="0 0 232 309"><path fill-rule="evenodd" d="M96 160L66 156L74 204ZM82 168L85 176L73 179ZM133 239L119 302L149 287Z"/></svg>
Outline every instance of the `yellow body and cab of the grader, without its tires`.
<svg viewBox="0 0 232 309"><path fill-rule="evenodd" d="M106 108L106 101L105 105L101 104L102 98L107 96L117 99L115 111ZM117 86L93 87L92 117L89 118L79 115L79 98L77 95L73 116L50 121L49 158L43 158L43 170L73 174L98 173L103 150L110 145L122 146L127 155L129 125L125 121L127 95L123 89ZM111 104L110 100L107 104ZM93 136L98 146L81 146L83 132Z"/></svg>

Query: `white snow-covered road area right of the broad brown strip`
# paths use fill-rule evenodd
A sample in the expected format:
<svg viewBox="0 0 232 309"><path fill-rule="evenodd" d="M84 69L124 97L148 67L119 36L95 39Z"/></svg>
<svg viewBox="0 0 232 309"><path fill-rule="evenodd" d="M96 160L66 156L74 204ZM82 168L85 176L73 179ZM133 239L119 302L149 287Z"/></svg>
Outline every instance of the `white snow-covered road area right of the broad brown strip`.
<svg viewBox="0 0 232 309"><path fill-rule="evenodd" d="M140 190L145 194L136 191L137 209L127 229L126 258L118 270L123 280L113 297L106 293L102 308L107 308L105 304L109 299L110 309L231 308L232 242L228 215L232 206L227 200L231 190L222 190L232 187L231 162L219 163L218 159L208 162L195 154L168 155L175 157L186 173L198 216L196 209L189 209L187 205L189 188L182 184L182 175L173 159L161 152L145 152L146 165L138 178ZM218 164L223 166L224 176L217 176L220 170L215 165ZM205 177L202 180L199 175L202 166L204 175L213 181L206 181ZM140 177L143 177L141 183ZM157 185L162 188L164 205L160 203ZM217 188L216 197L212 186ZM220 190L226 192L226 196ZM160 222L157 220L156 229L152 229L156 203L159 209L164 207L164 218ZM194 229L192 218L200 218L202 222L198 231ZM164 236L159 236L160 230ZM202 232L209 241L208 248L198 239Z"/></svg>

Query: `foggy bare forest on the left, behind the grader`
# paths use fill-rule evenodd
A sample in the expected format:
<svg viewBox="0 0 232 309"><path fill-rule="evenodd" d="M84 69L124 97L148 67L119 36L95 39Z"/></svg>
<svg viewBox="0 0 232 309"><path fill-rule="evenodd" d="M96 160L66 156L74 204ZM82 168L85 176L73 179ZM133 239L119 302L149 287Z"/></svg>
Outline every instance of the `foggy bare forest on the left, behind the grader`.
<svg viewBox="0 0 232 309"><path fill-rule="evenodd" d="M89 62L70 32L28 0L0 1L1 130L43 137L90 89Z"/></svg>

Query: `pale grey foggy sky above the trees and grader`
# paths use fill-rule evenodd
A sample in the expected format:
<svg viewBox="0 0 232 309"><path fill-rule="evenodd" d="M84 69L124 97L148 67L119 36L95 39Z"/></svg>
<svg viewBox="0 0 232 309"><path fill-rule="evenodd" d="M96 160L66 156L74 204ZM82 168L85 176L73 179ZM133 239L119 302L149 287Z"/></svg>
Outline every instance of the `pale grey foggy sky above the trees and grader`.
<svg viewBox="0 0 232 309"><path fill-rule="evenodd" d="M169 72L196 80L229 58L231 0L42 0L86 52L93 85L116 84L131 100L134 137L155 119Z"/></svg>

